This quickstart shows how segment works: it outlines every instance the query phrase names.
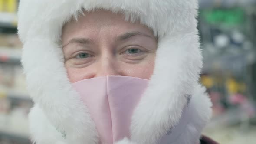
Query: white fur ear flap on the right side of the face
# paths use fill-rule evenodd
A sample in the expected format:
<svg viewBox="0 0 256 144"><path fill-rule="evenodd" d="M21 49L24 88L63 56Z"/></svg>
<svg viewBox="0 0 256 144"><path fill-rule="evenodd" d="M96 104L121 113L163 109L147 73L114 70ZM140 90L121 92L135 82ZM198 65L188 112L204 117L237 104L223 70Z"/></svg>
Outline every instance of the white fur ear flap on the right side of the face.
<svg viewBox="0 0 256 144"><path fill-rule="evenodd" d="M195 41L194 33L159 41L154 74L132 118L132 140L155 144L178 123L187 95L194 93L201 66ZM168 66L170 62L174 63Z"/></svg>

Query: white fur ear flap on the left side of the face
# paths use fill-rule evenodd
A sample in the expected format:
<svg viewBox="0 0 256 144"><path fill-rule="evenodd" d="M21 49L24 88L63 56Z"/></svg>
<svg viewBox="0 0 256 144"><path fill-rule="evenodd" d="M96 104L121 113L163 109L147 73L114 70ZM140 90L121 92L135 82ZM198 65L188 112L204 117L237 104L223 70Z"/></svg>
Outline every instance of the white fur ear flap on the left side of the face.
<svg viewBox="0 0 256 144"><path fill-rule="evenodd" d="M35 49L39 46L44 48ZM78 93L69 83L62 59L62 49L46 39L33 39L25 43L22 62L28 91L50 123L61 133L66 133L69 144L97 144L95 125Z"/></svg>

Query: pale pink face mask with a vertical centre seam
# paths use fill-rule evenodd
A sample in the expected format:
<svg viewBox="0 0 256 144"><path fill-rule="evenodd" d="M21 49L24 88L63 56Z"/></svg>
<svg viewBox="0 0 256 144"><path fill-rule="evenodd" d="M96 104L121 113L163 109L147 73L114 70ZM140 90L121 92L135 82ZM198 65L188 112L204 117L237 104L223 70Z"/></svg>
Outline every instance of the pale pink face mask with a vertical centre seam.
<svg viewBox="0 0 256 144"><path fill-rule="evenodd" d="M100 144L129 137L131 116L148 86L148 80L108 76L73 83L95 122Z"/></svg>

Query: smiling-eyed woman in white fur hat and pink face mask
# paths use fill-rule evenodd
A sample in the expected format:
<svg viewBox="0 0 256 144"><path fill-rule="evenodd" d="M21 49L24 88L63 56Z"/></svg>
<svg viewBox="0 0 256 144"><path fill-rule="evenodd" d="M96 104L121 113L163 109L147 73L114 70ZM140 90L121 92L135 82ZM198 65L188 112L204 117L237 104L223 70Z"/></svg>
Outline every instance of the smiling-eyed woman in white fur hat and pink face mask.
<svg viewBox="0 0 256 144"><path fill-rule="evenodd" d="M197 0L20 0L36 144L210 144Z"/></svg>

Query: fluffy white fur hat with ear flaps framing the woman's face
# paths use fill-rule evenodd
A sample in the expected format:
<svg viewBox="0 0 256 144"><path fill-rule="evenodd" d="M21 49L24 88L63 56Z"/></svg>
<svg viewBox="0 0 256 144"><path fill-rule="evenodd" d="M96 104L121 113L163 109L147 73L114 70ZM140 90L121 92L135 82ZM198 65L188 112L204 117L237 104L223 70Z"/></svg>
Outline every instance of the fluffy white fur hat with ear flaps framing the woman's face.
<svg viewBox="0 0 256 144"><path fill-rule="evenodd" d="M210 100L198 84L197 7L197 0L20 0L22 64L35 102L29 115L33 141L97 144L95 125L69 82L59 42L64 23L101 8L140 20L159 38L154 74L132 116L131 139L118 144L156 144L179 123L190 96L195 107L175 144L194 144L211 115Z"/></svg>

